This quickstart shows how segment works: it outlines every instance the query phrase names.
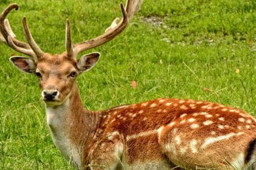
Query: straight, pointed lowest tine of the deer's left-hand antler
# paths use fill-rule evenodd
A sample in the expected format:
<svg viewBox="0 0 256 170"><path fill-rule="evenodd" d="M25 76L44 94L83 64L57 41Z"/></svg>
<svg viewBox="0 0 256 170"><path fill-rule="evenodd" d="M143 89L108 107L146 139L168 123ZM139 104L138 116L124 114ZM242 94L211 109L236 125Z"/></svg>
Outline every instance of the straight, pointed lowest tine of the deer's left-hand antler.
<svg viewBox="0 0 256 170"><path fill-rule="evenodd" d="M43 51L37 46L37 43L33 39L29 27L27 26L27 19L25 16L23 17L22 22L27 42L29 42L29 45L31 49L34 51L35 55L37 55L37 57L40 58L41 56L43 56Z"/></svg>

